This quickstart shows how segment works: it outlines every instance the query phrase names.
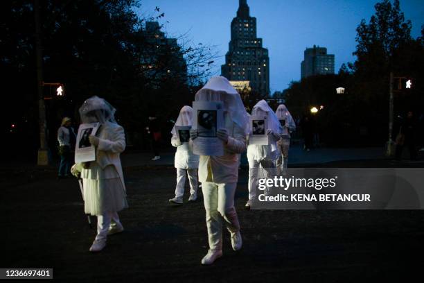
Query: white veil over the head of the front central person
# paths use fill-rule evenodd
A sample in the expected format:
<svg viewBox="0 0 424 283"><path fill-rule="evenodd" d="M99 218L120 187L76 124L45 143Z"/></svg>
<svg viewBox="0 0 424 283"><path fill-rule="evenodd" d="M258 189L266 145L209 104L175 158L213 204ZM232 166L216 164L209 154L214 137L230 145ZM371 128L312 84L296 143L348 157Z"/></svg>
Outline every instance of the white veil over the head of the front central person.
<svg viewBox="0 0 424 283"><path fill-rule="evenodd" d="M249 117L240 94L223 76L212 77L202 89L195 94L195 101L222 101L224 112L242 128L247 135L250 131Z"/></svg>

